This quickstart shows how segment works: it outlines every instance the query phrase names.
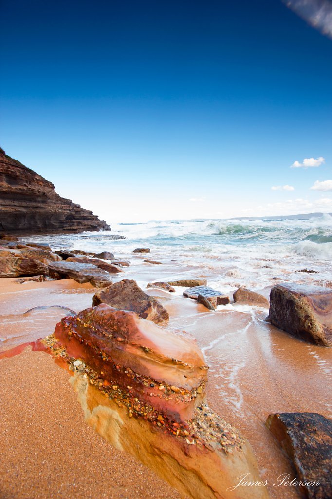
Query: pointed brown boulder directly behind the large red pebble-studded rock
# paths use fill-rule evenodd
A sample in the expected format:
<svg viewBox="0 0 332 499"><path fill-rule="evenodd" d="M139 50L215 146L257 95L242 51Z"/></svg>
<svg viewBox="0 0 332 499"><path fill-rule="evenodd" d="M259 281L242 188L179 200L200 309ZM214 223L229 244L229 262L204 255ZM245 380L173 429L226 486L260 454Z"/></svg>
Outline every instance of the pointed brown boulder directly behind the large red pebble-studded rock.
<svg viewBox="0 0 332 499"><path fill-rule="evenodd" d="M131 310L156 324L165 324L169 320L168 312L162 304L153 296L144 293L137 282L130 279L123 279L97 291L93 304L100 303L107 303L118 310Z"/></svg>

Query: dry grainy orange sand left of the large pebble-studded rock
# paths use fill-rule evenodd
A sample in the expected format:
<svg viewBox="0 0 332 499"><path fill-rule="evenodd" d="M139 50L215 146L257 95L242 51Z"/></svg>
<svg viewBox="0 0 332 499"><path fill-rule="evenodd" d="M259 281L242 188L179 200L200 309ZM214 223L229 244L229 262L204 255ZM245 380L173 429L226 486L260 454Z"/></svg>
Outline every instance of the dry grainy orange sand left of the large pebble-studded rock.
<svg viewBox="0 0 332 499"><path fill-rule="evenodd" d="M0 361L1 499L176 499L85 424L68 373L32 352Z"/></svg>

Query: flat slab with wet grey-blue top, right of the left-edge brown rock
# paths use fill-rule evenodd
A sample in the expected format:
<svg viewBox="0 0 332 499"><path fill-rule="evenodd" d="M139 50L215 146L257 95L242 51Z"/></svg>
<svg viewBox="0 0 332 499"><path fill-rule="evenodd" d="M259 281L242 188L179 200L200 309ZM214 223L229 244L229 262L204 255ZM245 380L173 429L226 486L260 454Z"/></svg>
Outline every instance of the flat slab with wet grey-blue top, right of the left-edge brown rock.
<svg viewBox="0 0 332 499"><path fill-rule="evenodd" d="M54 279L69 278L80 284L90 282L95 287L109 286L111 283L110 274L91 263L55 261L49 263L48 268L50 277Z"/></svg>

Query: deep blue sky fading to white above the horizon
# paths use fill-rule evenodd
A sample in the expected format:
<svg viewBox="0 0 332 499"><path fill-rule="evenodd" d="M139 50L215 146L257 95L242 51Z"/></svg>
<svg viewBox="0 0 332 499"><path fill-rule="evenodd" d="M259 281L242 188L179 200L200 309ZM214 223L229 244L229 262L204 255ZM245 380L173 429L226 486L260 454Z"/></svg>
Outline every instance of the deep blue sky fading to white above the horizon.
<svg viewBox="0 0 332 499"><path fill-rule="evenodd" d="M1 146L62 196L109 222L332 212L310 190L332 179L332 40L282 1L3 0L1 19Z"/></svg>

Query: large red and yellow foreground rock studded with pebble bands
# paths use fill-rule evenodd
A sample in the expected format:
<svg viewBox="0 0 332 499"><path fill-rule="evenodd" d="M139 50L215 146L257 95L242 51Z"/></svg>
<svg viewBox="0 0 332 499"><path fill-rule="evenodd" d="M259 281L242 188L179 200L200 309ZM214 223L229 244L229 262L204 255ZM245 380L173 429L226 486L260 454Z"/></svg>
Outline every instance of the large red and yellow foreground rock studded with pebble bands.
<svg viewBox="0 0 332 499"><path fill-rule="evenodd" d="M250 445L204 401L207 367L194 338L102 304L45 339L66 362L85 420L192 499L261 499ZM60 348L59 348L60 347ZM65 367L65 366L64 366Z"/></svg>

